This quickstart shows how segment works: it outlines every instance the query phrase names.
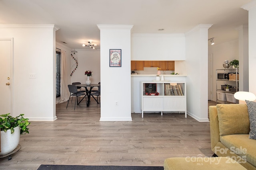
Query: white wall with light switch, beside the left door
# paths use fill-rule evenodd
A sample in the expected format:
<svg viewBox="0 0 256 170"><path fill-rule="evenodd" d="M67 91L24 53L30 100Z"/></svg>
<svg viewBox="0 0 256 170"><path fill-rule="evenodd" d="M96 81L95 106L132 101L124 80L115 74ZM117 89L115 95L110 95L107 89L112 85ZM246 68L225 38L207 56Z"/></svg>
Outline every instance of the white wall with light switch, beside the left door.
<svg viewBox="0 0 256 170"><path fill-rule="evenodd" d="M54 25L0 25L0 37L13 37L13 116L30 121L56 119ZM36 78L29 78L29 74Z"/></svg>

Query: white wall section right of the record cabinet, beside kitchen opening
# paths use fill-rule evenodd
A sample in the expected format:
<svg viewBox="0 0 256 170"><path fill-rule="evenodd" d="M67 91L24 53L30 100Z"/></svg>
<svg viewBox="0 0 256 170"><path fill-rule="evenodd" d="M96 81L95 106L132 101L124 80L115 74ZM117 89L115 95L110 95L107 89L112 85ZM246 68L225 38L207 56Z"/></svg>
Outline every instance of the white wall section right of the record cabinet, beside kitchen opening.
<svg viewBox="0 0 256 170"><path fill-rule="evenodd" d="M208 121L208 28L199 24L186 33L187 112L194 119Z"/></svg>

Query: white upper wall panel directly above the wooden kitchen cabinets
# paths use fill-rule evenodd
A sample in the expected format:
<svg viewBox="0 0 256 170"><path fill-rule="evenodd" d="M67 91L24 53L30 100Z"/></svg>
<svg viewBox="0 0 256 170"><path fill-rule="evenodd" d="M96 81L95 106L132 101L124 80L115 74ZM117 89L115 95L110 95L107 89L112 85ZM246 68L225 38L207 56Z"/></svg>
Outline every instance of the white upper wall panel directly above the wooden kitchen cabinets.
<svg viewBox="0 0 256 170"><path fill-rule="evenodd" d="M132 34L131 60L185 60L184 34Z"/></svg>

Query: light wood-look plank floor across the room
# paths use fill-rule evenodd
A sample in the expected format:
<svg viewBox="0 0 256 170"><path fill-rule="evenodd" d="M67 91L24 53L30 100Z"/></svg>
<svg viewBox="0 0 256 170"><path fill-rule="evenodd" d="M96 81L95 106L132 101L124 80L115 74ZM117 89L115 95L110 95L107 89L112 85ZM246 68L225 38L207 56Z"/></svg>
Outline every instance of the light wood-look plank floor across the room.
<svg viewBox="0 0 256 170"><path fill-rule="evenodd" d="M99 121L100 107L74 101L56 105L56 121L31 121L12 160L1 170L36 170L40 164L163 166L168 157L212 156L209 122L184 113L132 113L133 121Z"/></svg>

